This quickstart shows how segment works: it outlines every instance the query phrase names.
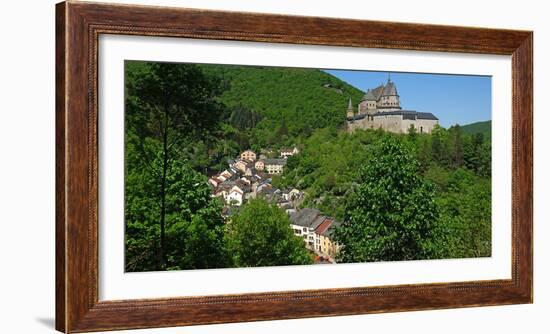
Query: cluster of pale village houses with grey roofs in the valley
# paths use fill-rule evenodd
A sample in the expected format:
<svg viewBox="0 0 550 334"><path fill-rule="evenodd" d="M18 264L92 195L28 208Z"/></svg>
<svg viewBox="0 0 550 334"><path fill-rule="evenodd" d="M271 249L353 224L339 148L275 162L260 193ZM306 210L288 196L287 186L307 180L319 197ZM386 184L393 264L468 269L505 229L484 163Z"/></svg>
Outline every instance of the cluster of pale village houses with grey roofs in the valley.
<svg viewBox="0 0 550 334"><path fill-rule="evenodd" d="M315 263L335 263L338 245L331 233L339 225L333 218L314 208L300 208L305 192L300 189L278 189L272 185L272 176L282 174L290 156L299 154L297 147L275 152L264 150L258 155L246 150L236 159L227 161L227 169L211 176L208 183L212 196L224 203L222 215L230 222L231 216L248 200L263 198L284 210L291 221L294 235L304 240L305 247L315 253Z"/></svg>

